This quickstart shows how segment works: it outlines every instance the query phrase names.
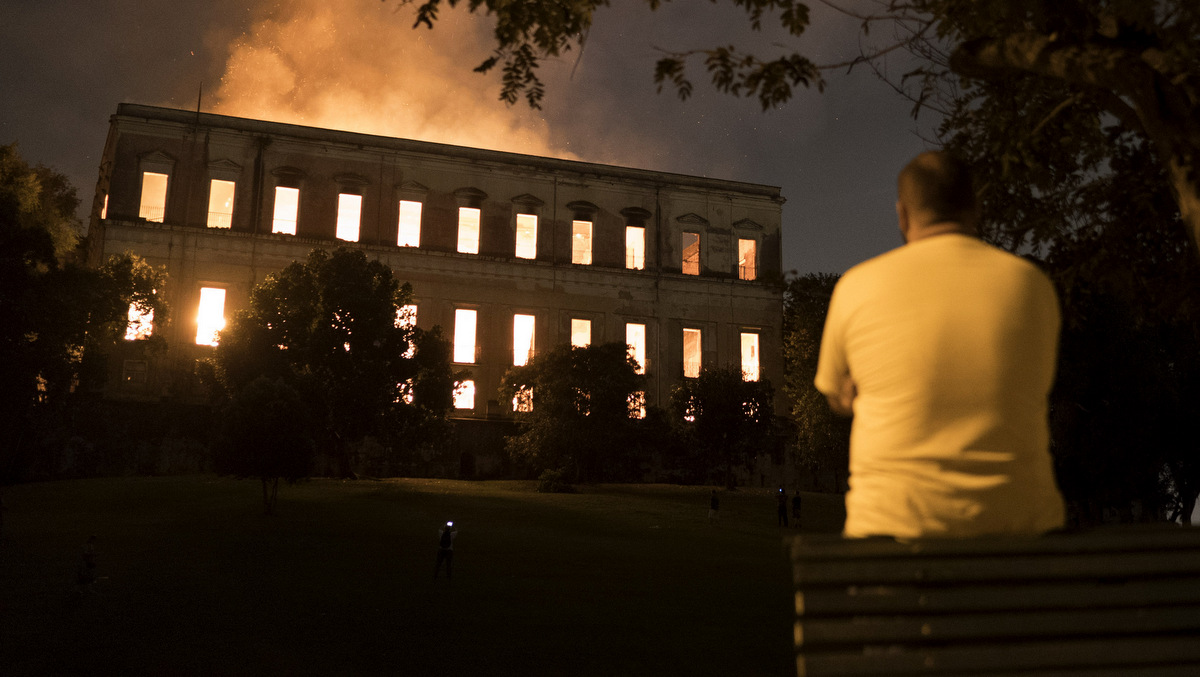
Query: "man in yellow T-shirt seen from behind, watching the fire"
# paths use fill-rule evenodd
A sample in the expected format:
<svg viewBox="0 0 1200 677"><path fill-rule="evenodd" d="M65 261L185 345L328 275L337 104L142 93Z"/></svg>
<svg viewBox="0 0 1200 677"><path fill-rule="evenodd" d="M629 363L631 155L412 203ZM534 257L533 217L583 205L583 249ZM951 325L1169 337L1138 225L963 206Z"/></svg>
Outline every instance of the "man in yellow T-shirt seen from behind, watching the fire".
<svg viewBox="0 0 1200 677"><path fill-rule="evenodd" d="M978 238L970 173L924 152L900 173L905 245L834 288L816 387L852 415L847 537L1038 534L1063 523L1049 453L1058 300Z"/></svg>

